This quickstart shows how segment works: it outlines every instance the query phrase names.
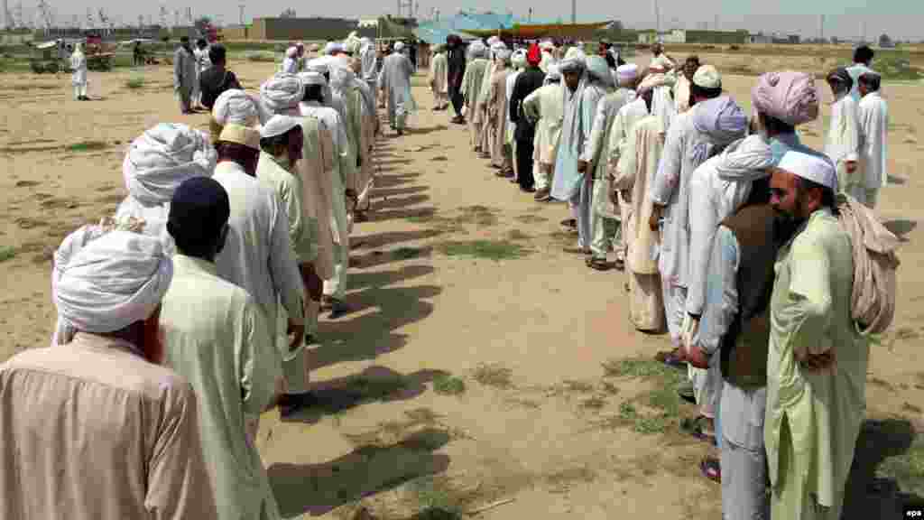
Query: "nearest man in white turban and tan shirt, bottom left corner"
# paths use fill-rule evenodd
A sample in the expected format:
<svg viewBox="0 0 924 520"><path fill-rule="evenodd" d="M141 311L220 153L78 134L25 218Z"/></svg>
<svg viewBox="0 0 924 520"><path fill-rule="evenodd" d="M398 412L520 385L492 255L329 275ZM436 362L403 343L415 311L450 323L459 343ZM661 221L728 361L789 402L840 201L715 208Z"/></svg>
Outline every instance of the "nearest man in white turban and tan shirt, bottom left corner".
<svg viewBox="0 0 924 520"><path fill-rule="evenodd" d="M158 365L172 279L155 238L85 226L62 242L60 344L0 365L0 517L218 518L196 394Z"/></svg>

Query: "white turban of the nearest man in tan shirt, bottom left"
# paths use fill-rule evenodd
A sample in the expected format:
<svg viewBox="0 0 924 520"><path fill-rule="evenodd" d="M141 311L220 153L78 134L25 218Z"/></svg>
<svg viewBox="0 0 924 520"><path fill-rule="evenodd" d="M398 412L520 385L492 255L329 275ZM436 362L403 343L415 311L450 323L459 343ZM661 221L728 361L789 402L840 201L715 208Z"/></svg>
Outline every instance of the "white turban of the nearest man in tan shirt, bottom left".
<svg viewBox="0 0 924 520"><path fill-rule="evenodd" d="M130 231L84 226L55 251L55 342L77 330L106 334L151 317L173 279L161 242Z"/></svg>

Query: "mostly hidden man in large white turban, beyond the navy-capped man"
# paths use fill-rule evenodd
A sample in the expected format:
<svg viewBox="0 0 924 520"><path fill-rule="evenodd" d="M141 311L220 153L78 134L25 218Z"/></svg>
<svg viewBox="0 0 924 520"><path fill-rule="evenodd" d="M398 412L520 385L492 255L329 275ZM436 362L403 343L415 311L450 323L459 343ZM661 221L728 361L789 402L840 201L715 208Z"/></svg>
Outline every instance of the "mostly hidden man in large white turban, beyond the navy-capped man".
<svg viewBox="0 0 924 520"><path fill-rule="evenodd" d="M128 146L122 176L128 197L116 210L116 220L144 222L144 233L159 238L167 254L174 243L167 233L170 199L176 188L194 177L212 177L218 155L201 130L161 123Z"/></svg>

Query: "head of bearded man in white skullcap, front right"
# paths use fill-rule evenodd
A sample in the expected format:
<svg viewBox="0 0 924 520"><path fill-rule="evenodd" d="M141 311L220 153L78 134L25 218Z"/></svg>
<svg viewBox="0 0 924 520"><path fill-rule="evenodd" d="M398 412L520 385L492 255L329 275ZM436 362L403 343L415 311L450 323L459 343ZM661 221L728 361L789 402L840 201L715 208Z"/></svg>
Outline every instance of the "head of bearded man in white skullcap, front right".
<svg viewBox="0 0 924 520"><path fill-rule="evenodd" d="M790 151L773 168L770 191L777 216L797 225L819 209L835 209L837 170L823 155Z"/></svg>

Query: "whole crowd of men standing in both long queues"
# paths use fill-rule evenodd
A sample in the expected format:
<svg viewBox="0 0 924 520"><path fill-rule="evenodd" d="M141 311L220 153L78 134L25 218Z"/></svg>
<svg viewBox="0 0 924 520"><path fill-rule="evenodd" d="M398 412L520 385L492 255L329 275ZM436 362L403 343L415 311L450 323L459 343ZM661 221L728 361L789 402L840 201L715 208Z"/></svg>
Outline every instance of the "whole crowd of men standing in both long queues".
<svg viewBox="0 0 924 520"><path fill-rule="evenodd" d="M625 272L630 322L666 328L674 349L656 357L687 373L678 399L698 416L683 427L716 448L701 470L723 517L839 518L869 337L894 312L881 280L898 241L872 212L888 111L871 51L827 75L816 151L797 133L819 117L809 74L760 76L748 115L697 56L678 66L656 44L639 68L585 47L450 36L433 109L452 106L499 178L566 203L566 251ZM224 47L183 42L180 108L207 109L210 132L144 131L116 215L55 252L53 348L0 365L0 516L280 517L260 415L316 403L306 346L322 310L351 311L378 109L396 135L418 109L408 50L352 33L308 58L294 43L248 93Z"/></svg>

